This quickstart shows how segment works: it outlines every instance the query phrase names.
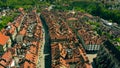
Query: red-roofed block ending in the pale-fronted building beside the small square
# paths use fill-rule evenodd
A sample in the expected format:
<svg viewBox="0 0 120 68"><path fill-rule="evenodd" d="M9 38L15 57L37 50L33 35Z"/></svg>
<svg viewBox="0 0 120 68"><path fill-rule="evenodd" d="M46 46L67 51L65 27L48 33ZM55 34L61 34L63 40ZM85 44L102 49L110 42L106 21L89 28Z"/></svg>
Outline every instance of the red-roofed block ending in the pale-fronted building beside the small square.
<svg viewBox="0 0 120 68"><path fill-rule="evenodd" d="M96 52L99 50L100 45L102 44L102 37L100 37L93 30L90 24L86 23L89 21L92 22L96 21L93 16L86 13L74 11L69 12L58 11L57 13L56 13L56 16L58 17L57 23L65 22L65 24L68 24L67 26L70 26L78 36L81 36L80 40L83 40L84 45L83 44L82 45L86 51ZM52 17L52 19L54 19L54 16ZM70 36L72 36L72 34Z"/></svg>

